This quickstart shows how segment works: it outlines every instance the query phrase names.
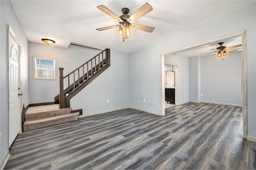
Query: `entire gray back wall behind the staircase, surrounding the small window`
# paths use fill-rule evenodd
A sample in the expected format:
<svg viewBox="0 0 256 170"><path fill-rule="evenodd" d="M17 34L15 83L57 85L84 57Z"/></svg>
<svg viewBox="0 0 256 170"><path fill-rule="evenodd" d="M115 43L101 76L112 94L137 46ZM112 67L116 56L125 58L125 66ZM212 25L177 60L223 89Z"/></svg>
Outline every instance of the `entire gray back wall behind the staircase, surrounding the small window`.
<svg viewBox="0 0 256 170"><path fill-rule="evenodd" d="M30 103L54 101L54 97L59 93L59 79L33 79L33 55L56 58L57 67L63 67L64 75L67 75L99 52L99 50L76 45L70 45L65 49L30 42L28 50ZM114 50L111 50L110 54L110 67L70 100L72 109L83 109L83 115L86 115L129 106L128 54ZM109 103L106 102L107 99Z"/></svg>

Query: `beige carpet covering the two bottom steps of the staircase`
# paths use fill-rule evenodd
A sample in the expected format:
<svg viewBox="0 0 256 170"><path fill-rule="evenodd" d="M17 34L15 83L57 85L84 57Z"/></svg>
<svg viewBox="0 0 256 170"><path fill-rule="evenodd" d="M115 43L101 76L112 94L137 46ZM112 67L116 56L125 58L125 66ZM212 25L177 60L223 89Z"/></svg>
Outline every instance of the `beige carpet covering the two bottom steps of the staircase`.
<svg viewBox="0 0 256 170"><path fill-rule="evenodd" d="M60 123L76 121L79 112L70 113L72 108L59 109L59 105L29 107L25 113L23 130L34 130Z"/></svg>

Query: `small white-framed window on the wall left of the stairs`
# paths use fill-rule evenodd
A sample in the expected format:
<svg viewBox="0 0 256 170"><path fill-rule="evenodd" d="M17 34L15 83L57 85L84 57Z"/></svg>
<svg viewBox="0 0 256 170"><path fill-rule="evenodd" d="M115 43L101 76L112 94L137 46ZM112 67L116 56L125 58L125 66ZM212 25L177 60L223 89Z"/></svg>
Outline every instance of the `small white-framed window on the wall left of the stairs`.
<svg viewBox="0 0 256 170"><path fill-rule="evenodd" d="M57 79L57 59L49 59L33 56L34 79Z"/></svg>

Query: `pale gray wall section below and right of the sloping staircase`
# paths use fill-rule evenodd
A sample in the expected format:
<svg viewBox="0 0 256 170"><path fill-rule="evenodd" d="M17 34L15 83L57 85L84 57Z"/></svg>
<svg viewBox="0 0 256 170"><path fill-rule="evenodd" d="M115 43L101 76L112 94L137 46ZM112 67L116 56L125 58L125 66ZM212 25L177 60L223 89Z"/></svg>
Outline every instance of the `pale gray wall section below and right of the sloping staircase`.
<svg viewBox="0 0 256 170"><path fill-rule="evenodd" d="M70 100L70 106L83 109L83 115L130 106L129 56L110 53L111 66Z"/></svg>

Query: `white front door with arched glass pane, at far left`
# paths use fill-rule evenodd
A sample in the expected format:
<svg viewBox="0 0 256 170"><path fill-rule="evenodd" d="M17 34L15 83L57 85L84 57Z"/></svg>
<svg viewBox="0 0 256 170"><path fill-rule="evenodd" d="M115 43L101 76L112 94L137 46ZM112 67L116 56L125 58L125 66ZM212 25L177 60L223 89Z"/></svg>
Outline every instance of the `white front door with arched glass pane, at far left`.
<svg viewBox="0 0 256 170"><path fill-rule="evenodd" d="M9 147L19 133L19 46L9 32Z"/></svg>

